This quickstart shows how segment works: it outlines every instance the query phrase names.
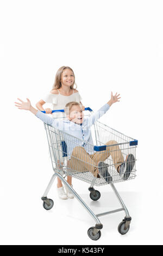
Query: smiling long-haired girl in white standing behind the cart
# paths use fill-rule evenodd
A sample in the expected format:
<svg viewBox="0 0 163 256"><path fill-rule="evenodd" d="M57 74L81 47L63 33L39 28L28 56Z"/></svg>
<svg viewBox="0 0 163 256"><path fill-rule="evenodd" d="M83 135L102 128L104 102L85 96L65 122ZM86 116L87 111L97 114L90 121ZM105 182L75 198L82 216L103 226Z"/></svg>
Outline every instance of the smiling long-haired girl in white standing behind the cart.
<svg viewBox="0 0 163 256"><path fill-rule="evenodd" d="M75 83L75 76L73 70L69 66L61 66L59 70L57 71L57 74L55 76L55 82L53 84L53 89L50 93L48 93L45 97L43 97L39 102L36 103L37 109L40 111L46 111L46 114L51 114L52 109L64 109L65 105L68 102L71 101L77 101L81 102L82 97L80 96L78 90L74 89L74 83ZM52 103L52 109L51 108L45 108L43 109L43 105L45 103ZM84 106L83 106L84 110ZM53 113L54 118L64 118L65 113L57 112ZM60 147L60 152L61 147ZM62 156L58 156L58 159L62 159ZM63 159L62 159L63 161ZM60 162L58 160L58 166L59 168L62 167L63 162ZM69 161L67 160L67 165L69 164ZM72 186L72 177L67 176L67 182ZM62 186L61 180L58 178L58 184L57 184L57 191L58 196L61 199L67 199L67 198L74 198L73 194L67 190L67 187L65 187L66 193L64 190L64 187Z"/></svg>

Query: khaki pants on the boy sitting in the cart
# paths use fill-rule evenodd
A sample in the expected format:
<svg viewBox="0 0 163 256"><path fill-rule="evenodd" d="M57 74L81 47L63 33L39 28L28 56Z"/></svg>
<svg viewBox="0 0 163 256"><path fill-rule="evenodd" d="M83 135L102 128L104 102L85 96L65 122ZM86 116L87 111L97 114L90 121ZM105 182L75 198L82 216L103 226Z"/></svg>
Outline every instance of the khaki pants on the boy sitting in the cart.
<svg viewBox="0 0 163 256"><path fill-rule="evenodd" d="M110 155L117 170L118 166L124 162L121 149L118 145L112 146L112 144L118 144L116 141L106 142L105 145L111 145L106 147L106 150L96 152L89 155L83 147L76 147L72 151L70 168L77 170L78 172L90 171L95 177L98 174L97 164L99 161L105 161Z"/></svg>

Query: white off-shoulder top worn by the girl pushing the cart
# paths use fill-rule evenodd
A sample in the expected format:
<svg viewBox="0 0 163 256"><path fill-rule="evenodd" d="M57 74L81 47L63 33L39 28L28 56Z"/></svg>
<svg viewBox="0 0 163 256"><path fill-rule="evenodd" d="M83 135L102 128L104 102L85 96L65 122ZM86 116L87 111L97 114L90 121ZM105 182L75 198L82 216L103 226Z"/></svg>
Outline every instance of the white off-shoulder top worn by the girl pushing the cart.
<svg viewBox="0 0 163 256"><path fill-rule="evenodd" d="M70 96L62 95L58 90L58 94L48 93L47 95L42 97L42 100L47 103L52 103L52 110L55 110L55 109L64 109L66 104L71 101L80 102L82 100L82 97L80 96L79 92L74 93L74 90ZM65 117L65 113L54 112L52 117L53 118Z"/></svg>

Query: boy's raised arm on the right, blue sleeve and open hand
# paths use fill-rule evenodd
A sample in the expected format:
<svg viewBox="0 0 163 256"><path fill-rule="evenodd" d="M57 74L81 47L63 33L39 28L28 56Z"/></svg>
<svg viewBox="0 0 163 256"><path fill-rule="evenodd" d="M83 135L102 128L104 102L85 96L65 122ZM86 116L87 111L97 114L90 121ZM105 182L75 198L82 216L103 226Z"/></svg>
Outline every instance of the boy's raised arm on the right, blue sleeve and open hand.
<svg viewBox="0 0 163 256"><path fill-rule="evenodd" d="M89 118L89 124L93 125L95 123L95 121L97 121L99 118L102 117L102 115L104 115L109 108L111 107L111 105L117 101L120 101L121 97L120 94L117 95L117 93L115 95L112 95L111 92L111 98L110 100L103 106L101 107L97 112L93 113L90 118Z"/></svg>

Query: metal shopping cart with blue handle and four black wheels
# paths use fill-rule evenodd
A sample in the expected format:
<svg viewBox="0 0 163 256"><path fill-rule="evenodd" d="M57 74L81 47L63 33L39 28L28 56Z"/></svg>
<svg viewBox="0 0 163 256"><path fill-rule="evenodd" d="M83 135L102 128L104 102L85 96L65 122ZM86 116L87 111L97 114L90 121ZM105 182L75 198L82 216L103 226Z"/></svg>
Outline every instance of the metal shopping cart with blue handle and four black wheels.
<svg viewBox="0 0 163 256"><path fill-rule="evenodd" d="M92 112L91 108L85 108L85 110L87 111L87 115L90 115ZM64 112L64 110L61 109L53 112ZM89 150L89 154L91 152L92 156L95 156L95 154L98 153L98 160L100 159L100 161L103 162L102 170L105 170L105 167L108 168L108 173L106 176L106 172L98 172L99 168L96 161L96 157L94 157L95 161L93 160L93 163L89 163L89 166L87 163L87 157L84 157L82 159L83 155L80 155L80 153L83 154L83 140L78 139L77 137L74 137L61 130L55 129L54 127L47 125L45 123L44 126L47 134L49 152L51 155L54 174L51 180L49 181L45 193L41 198L43 200L43 208L45 208L46 210L50 210L53 208L53 200L47 198L47 194L50 188L52 187L55 178L58 177L68 187L68 189L73 193L74 197L77 198L80 204L83 205L83 207L87 210L87 212L89 212L89 214L95 220L96 225L94 227L89 228L87 231L87 234L92 240L98 240L99 237L101 237L101 229L103 228L103 225L99 221L98 217L113 214L114 212L119 211L124 211L126 216L124 217L123 221L118 225L118 231L122 235L126 234L130 228L131 217L126 208L126 205L124 205L123 200L120 197L120 194L118 194L114 186L114 183L131 180L135 178L135 153L137 147L137 140L130 138L124 135L123 133L108 127L100 121L96 121L96 123L92 126L91 131L92 138L94 139L93 141L96 142L96 145L87 143L86 147L87 150ZM71 145L72 142L73 148L75 144L78 149L78 154L72 154L74 160L72 163L72 156L68 156L66 141L69 145ZM112 144L105 145L105 143L109 141L111 141ZM106 151L109 151L109 157L106 157ZM117 167L113 160L115 159L115 156L119 154L121 154L121 157L123 157L124 161L126 160L126 157L130 154L133 155L135 158L134 168L131 170L129 175L123 176L123 178L117 172ZM94 173L91 172L92 169L94 170ZM99 214L94 214L92 210L89 208L89 206L87 206L83 199L77 194L74 188L68 184L68 182L65 179L67 175L89 183L90 198L95 201L101 197L101 193L98 190L95 190L94 186L102 186L109 184L112 187L114 193L116 194L116 197L121 204L121 208L112 211L102 212Z"/></svg>

